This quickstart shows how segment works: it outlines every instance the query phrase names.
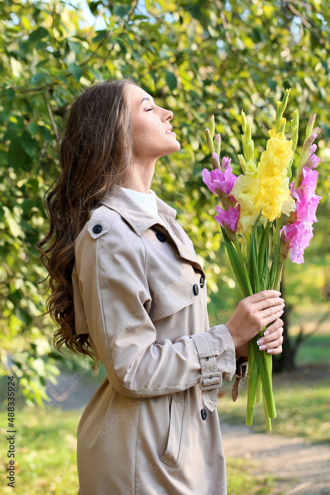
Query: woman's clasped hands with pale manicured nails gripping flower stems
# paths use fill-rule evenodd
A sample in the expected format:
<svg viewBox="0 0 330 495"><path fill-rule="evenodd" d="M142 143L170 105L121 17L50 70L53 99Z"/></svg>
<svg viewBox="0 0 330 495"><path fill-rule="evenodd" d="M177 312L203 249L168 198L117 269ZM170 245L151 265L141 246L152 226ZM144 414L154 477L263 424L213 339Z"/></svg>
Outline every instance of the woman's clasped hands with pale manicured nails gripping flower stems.
<svg viewBox="0 0 330 495"><path fill-rule="evenodd" d="M236 357L247 356L247 342L269 323L272 324L265 330L265 336L258 341L260 350L271 350L272 354L282 352L283 321L280 316L285 304L279 295L274 290L261 291L239 302L232 318L226 323L234 341Z"/></svg>

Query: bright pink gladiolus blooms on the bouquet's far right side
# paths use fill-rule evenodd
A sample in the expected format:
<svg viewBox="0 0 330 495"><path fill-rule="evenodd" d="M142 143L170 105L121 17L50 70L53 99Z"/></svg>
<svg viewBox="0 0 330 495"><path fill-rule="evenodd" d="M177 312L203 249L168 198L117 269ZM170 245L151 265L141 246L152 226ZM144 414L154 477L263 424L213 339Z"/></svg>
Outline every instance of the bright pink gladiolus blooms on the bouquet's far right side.
<svg viewBox="0 0 330 495"><path fill-rule="evenodd" d="M317 222L315 213L321 199L321 196L315 194L319 172L304 167L302 173L304 178L300 186L293 192L293 182L290 184L291 196L296 200L297 220L294 223L284 225L280 232L280 235L283 232L285 242L290 240L290 260L298 264L303 263L304 249L313 237L312 224Z"/></svg>

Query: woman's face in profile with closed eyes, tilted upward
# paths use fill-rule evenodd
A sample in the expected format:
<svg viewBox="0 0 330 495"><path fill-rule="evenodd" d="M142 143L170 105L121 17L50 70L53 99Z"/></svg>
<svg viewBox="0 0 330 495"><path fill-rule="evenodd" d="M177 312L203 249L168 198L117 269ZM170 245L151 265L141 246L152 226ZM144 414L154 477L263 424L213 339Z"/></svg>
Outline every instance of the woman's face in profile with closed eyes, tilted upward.
<svg viewBox="0 0 330 495"><path fill-rule="evenodd" d="M157 159L174 151L181 145L172 131L171 110L157 106L152 97L134 84L128 85L131 97L131 123L134 156L136 159ZM174 129L175 131L175 129Z"/></svg>

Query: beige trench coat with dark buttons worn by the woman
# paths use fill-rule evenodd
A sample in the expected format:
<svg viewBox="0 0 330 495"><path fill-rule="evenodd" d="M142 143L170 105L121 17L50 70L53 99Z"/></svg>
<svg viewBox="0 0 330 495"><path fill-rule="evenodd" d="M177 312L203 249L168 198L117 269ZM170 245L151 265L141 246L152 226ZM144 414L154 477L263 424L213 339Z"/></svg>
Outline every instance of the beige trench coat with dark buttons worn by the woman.
<svg viewBox="0 0 330 495"><path fill-rule="evenodd" d="M120 189L76 240L76 332L107 372L78 424L79 495L227 494L216 406L235 347L225 325L209 327L176 210L157 206L166 227Z"/></svg>

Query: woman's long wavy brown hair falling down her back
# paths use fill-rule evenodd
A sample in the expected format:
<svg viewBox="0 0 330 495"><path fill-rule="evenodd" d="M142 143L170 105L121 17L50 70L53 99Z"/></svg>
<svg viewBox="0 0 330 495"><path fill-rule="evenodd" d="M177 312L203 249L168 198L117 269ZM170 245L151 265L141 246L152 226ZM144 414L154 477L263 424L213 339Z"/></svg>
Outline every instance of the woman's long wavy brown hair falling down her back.
<svg viewBox="0 0 330 495"><path fill-rule="evenodd" d="M44 314L49 313L58 326L54 347L63 353L65 345L77 355L89 355L96 368L89 334L75 331L71 274L75 241L90 209L112 195L114 185L123 186L132 172L129 84L139 86L131 78L97 83L67 110L57 147L58 174L44 196L49 231L35 245L49 277Z"/></svg>

